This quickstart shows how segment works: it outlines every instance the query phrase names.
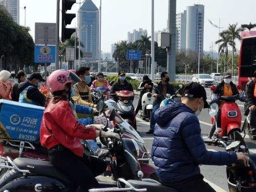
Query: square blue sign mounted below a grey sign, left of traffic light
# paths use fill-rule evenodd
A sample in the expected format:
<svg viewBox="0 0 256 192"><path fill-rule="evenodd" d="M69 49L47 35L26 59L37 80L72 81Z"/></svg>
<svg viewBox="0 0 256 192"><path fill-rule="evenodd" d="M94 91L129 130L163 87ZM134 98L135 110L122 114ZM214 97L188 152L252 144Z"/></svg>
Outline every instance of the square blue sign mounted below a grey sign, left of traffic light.
<svg viewBox="0 0 256 192"><path fill-rule="evenodd" d="M39 46L35 45L35 63L54 63L55 62L55 46Z"/></svg>

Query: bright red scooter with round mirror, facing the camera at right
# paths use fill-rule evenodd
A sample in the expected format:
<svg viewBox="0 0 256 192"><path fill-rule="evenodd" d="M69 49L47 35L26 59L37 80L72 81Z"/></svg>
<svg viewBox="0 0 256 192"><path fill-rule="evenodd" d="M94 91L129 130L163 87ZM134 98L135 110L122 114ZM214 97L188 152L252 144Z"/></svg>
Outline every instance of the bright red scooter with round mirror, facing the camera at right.
<svg viewBox="0 0 256 192"><path fill-rule="evenodd" d="M211 90L215 91L216 87L212 86ZM234 95L234 96L221 96L218 98L216 94L211 95L211 108L209 109L209 115L211 116L211 121L213 126L216 127L215 135L216 137L213 140L206 140L205 143L216 143L216 140L223 140L226 144L229 144L235 140L235 132L238 131L241 133L241 121L242 115L241 111L236 104L236 100L243 100L243 95ZM219 111L218 102L221 102L221 124L220 127L217 126L216 114ZM223 101L223 102L222 102Z"/></svg>

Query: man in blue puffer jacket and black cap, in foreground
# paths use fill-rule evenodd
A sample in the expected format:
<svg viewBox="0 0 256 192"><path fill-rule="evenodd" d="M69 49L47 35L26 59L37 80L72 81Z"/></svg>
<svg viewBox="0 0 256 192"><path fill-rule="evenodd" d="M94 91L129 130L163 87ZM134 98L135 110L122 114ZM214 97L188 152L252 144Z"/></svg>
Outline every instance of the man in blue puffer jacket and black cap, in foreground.
<svg viewBox="0 0 256 192"><path fill-rule="evenodd" d="M179 192L215 192L203 181L199 164L229 165L237 160L248 164L243 153L206 150L196 116L209 108L206 91L196 82L186 85L182 103L172 103L158 109L154 115L156 127L151 150L156 173L163 185Z"/></svg>

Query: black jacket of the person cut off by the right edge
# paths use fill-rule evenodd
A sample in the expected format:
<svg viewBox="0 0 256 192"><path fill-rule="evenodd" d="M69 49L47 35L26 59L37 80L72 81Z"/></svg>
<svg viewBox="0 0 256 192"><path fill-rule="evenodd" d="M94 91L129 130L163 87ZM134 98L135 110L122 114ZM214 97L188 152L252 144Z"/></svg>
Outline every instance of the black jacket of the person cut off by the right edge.
<svg viewBox="0 0 256 192"><path fill-rule="evenodd" d="M254 97L255 80L249 81L246 84L246 102L244 104L245 115L249 114L249 107L256 105L256 98Z"/></svg>

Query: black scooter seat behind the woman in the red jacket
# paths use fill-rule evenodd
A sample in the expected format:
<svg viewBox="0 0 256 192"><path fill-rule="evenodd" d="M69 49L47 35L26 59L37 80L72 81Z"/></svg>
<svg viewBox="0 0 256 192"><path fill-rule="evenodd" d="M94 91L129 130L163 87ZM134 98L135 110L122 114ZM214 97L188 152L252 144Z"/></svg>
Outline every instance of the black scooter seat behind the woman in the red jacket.
<svg viewBox="0 0 256 192"><path fill-rule="evenodd" d="M50 162L28 158L16 158L13 163L15 163L19 169L29 170L31 173L40 175L52 176L70 183L70 178L56 169Z"/></svg>

